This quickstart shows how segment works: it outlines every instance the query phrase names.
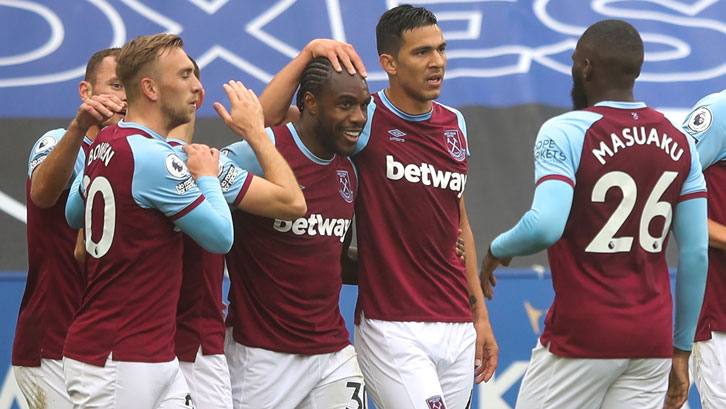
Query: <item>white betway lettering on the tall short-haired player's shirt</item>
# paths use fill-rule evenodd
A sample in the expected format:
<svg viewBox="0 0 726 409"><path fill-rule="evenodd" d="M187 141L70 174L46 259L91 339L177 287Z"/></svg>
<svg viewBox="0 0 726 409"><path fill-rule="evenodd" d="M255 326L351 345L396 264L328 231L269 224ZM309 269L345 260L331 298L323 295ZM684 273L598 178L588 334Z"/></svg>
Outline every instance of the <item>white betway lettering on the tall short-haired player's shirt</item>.
<svg viewBox="0 0 726 409"><path fill-rule="evenodd" d="M397 162L393 155L386 155L386 177L391 180L405 178L411 183L423 183L426 186L433 186L439 189L451 189L459 192L461 197L466 186L466 175L462 173L443 172L434 165L421 162L421 165L406 165Z"/></svg>

